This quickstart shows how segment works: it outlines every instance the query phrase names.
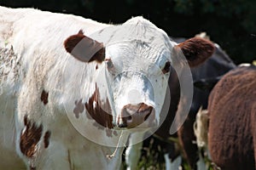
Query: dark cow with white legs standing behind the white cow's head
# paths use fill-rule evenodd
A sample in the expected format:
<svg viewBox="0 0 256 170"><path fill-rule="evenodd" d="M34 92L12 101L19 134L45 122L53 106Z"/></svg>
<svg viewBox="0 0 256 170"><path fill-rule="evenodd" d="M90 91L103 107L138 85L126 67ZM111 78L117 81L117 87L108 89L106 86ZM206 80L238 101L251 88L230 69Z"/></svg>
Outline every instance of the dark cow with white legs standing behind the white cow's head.
<svg viewBox="0 0 256 170"><path fill-rule="evenodd" d="M172 37L171 39L175 42L186 41L185 38ZM174 116L176 115L177 106L179 105L179 102L182 101L182 99L180 99L180 86L177 73L175 71L171 71L168 83L172 102L170 103L169 111L165 121L154 133L154 137L156 137L154 138L155 142L160 143L163 154L166 154L164 157L166 161L166 167L172 167L172 165L170 165L170 159L174 161L182 151L183 157L186 159L186 161L189 162L189 166L193 169L196 168L196 162L199 158L199 151L197 145L195 144L196 139L193 128L196 113L201 106L203 109L207 109L208 96L213 86L218 82L219 78L222 77L226 72L236 68L236 65L230 59L228 54L226 54L217 43L214 43L214 45L215 51L212 54L212 57L207 59L207 61L201 65L191 68L195 87L193 88L194 94L189 116L183 123L183 126L177 131L177 133L172 135L169 133L169 130L174 120ZM131 135L130 142L132 143L133 139L143 138L143 135L143 133L133 133ZM174 144L172 140L170 141L170 138L178 138L178 142L182 147L178 149L176 146L177 144ZM146 141L149 140L150 139L147 139ZM137 168L137 161L139 160L141 154L140 150L142 147L142 143L128 146L125 152L125 161L128 165L128 169ZM180 161L178 159L179 158L177 158L177 161ZM176 168L177 167L174 169Z"/></svg>

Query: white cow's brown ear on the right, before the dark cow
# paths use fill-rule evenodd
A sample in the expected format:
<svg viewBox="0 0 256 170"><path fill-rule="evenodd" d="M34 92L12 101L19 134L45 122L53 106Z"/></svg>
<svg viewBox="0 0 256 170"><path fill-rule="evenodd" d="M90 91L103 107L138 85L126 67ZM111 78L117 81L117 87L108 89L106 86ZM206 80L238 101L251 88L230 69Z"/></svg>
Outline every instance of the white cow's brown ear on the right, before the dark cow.
<svg viewBox="0 0 256 170"><path fill-rule="evenodd" d="M182 50L190 67L203 63L212 56L215 49L212 42L201 37L193 37L185 42L179 43L174 48L180 48Z"/></svg>

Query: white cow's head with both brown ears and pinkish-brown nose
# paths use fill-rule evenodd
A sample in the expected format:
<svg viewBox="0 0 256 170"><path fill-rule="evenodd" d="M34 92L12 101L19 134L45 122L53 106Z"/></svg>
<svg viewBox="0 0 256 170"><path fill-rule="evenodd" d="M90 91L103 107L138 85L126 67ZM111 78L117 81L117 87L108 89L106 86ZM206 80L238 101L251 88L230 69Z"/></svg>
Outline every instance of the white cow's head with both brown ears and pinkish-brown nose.
<svg viewBox="0 0 256 170"><path fill-rule="evenodd" d="M164 31L141 17L115 26L110 34L108 41L100 42L101 36L96 41L79 31L64 42L68 53L84 65L96 64L100 72L94 94L99 102L89 101L86 109L94 119L104 116L103 122L96 122L105 127L158 126L170 66L182 67L187 61L190 66L199 65L214 49L212 42L198 37L180 44L172 42ZM181 54L187 61L178 59ZM104 101L102 88L108 96ZM106 103L108 107L103 106Z"/></svg>

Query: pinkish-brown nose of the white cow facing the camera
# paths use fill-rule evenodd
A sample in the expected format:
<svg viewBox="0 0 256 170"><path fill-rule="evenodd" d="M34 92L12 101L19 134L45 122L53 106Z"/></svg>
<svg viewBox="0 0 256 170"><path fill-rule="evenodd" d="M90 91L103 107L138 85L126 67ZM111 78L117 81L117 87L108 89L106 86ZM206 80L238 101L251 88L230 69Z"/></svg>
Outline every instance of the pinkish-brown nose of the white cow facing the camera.
<svg viewBox="0 0 256 170"><path fill-rule="evenodd" d="M153 107L144 103L138 105L125 105L121 111L122 123L119 124L119 127L137 127L147 121L152 112Z"/></svg>

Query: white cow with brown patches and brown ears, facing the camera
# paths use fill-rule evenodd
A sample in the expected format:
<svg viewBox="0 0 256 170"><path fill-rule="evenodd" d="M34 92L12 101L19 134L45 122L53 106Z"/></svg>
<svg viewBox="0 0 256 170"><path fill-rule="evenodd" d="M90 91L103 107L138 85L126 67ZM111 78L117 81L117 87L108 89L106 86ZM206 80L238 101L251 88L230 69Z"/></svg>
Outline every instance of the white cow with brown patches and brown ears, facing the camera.
<svg viewBox="0 0 256 170"><path fill-rule="evenodd" d="M1 169L119 169L128 135L160 124L170 66L214 51L143 17L114 26L5 7L0 48Z"/></svg>

